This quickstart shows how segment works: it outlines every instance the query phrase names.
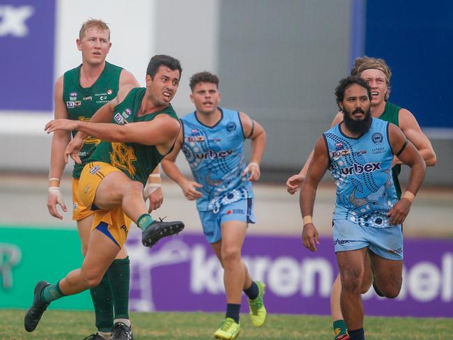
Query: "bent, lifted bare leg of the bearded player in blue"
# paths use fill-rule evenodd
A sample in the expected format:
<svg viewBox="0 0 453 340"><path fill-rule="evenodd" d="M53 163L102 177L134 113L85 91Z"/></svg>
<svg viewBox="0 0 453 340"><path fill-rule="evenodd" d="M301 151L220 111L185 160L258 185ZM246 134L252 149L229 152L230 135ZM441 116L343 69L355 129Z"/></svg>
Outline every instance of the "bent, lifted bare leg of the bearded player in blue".
<svg viewBox="0 0 453 340"><path fill-rule="evenodd" d="M369 252L375 276L375 284L385 297L393 299L399 295L403 282L403 261L387 260Z"/></svg>

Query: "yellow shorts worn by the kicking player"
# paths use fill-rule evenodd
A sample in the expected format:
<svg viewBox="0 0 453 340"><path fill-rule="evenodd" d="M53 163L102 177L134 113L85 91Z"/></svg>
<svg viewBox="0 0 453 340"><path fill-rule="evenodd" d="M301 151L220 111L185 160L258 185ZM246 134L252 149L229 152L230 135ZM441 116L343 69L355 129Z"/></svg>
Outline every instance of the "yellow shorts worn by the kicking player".
<svg viewBox="0 0 453 340"><path fill-rule="evenodd" d="M103 178L109 173L120 171L111 164L104 162L89 162L85 165L79 178L79 198L82 204L93 211L93 201L96 190ZM123 247L130 228L130 219L123 208L114 210L94 210L91 231L98 229L111 238L119 247Z"/></svg>

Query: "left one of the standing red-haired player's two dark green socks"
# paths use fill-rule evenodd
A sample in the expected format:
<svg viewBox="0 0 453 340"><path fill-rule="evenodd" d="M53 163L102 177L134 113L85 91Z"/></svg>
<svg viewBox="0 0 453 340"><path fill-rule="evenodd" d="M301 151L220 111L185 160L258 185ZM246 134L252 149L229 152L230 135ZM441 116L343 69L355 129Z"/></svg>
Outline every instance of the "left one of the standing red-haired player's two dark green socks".
<svg viewBox="0 0 453 340"><path fill-rule="evenodd" d="M107 273L95 288L90 289L93 300L96 327L100 332L112 332L113 301Z"/></svg>

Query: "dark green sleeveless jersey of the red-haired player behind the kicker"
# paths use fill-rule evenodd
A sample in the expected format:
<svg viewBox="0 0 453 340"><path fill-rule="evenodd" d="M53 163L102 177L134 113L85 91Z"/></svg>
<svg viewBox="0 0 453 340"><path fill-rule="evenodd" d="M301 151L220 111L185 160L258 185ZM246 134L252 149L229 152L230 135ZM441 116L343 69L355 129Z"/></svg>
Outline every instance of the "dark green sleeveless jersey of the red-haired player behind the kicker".
<svg viewBox="0 0 453 340"><path fill-rule="evenodd" d="M123 68L106 62L104 70L95 83L86 88L80 86L80 68L82 68L82 65L65 72L63 75L63 101L70 119L73 121L89 121L95 111L98 111L102 105L116 97ZM75 134L77 134L77 131L72 131L72 137ZM92 136L84 139L84 146L79 151L82 164L74 164L73 178L80 177L84 165L99 143L100 139Z"/></svg>

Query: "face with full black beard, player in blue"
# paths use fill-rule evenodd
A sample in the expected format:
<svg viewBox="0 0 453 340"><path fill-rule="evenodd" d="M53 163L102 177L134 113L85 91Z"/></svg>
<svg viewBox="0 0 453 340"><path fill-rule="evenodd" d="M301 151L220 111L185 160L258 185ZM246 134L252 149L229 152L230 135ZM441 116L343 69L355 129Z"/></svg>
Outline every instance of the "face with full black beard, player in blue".
<svg viewBox="0 0 453 340"><path fill-rule="evenodd" d="M340 103L344 113L344 124L355 134L364 134L371 124L370 101L367 89L353 84L344 91L343 102Z"/></svg>

